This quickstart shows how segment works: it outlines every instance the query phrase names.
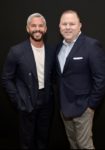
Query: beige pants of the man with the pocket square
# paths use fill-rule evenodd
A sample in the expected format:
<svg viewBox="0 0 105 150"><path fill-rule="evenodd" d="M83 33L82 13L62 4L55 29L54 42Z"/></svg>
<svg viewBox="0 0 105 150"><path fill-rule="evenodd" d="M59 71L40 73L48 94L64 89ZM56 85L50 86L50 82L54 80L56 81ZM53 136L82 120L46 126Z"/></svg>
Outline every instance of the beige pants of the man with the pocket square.
<svg viewBox="0 0 105 150"><path fill-rule="evenodd" d="M95 149L92 140L92 109L87 108L80 117L74 119L67 119L62 113L61 117L72 149Z"/></svg>

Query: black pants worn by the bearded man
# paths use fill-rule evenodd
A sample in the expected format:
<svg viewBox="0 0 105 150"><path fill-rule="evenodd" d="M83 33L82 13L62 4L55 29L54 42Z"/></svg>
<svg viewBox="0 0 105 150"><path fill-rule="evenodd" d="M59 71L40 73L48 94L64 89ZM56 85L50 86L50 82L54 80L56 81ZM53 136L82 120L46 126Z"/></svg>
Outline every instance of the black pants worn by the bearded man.
<svg viewBox="0 0 105 150"><path fill-rule="evenodd" d="M20 112L21 149L47 150L51 104L44 104L44 92L39 92L38 104L31 113Z"/></svg>

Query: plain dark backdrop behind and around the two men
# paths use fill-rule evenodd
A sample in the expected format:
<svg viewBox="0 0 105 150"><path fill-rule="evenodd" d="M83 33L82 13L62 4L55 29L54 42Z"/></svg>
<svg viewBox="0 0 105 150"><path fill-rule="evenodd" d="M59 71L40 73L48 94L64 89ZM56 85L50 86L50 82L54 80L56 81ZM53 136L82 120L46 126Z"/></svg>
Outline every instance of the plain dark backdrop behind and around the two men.
<svg viewBox="0 0 105 150"><path fill-rule="evenodd" d="M59 40L59 17L66 9L75 9L81 16L82 31L101 41L105 48L104 0L1 0L0 1L0 75L9 51L27 37L26 20L34 12L42 13L48 25L47 41L53 45ZM18 147L17 112L0 85L0 148ZM96 111L93 136L96 148L105 147L105 100ZM50 149L68 149L68 142L55 102L51 128Z"/></svg>

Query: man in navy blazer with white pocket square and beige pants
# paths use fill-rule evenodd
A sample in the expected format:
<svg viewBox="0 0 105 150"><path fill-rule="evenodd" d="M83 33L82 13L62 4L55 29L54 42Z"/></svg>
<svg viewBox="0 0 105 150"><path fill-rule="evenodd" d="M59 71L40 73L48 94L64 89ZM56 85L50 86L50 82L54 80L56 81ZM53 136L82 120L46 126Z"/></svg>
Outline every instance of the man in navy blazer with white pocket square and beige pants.
<svg viewBox="0 0 105 150"><path fill-rule="evenodd" d="M57 45L59 103L72 149L94 149L94 111L105 93L105 52L100 43L81 33L74 10L63 12L59 28L64 40Z"/></svg>

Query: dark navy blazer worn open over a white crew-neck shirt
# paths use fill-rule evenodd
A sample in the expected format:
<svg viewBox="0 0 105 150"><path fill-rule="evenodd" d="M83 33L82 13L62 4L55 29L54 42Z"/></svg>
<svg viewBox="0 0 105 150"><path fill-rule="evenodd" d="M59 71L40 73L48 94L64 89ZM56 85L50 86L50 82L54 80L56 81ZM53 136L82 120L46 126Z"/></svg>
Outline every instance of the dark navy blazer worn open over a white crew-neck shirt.
<svg viewBox="0 0 105 150"><path fill-rule="evenodd" d="M45 103L50 103L52 98L54 58L54 49L45 45ZM29 40L10 49L4 64L2 81L17 108L31 112L37 101L38 77Z"/></svg>

